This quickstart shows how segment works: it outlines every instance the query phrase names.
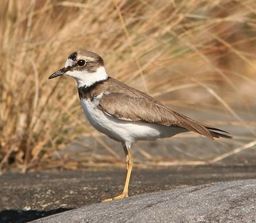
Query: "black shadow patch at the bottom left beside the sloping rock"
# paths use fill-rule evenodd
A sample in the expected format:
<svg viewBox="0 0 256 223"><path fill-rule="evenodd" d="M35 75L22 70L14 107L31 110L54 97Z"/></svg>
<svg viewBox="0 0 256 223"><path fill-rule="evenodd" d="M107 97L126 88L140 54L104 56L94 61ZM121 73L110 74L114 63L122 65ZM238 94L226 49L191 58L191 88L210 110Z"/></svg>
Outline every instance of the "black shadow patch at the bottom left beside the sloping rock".
<svg viewBox="0 0 256 223"><path fill-rule="evenodd" d="M7 209L0 211L0 222L1 223L23 223L30 222L42 217L50 216L52 214L61 213L63 211L68 211L73 208L58 208L49 211L39 211L39 210L14 210Z"/></svg>

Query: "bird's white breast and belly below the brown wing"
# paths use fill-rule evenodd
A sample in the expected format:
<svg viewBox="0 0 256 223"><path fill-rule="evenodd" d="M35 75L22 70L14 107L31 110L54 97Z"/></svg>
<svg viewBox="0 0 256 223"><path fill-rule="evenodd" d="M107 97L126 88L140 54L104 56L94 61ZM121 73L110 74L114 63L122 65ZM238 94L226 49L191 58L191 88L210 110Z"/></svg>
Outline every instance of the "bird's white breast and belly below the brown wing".
<svg viewBox="0 0 256 223"><path fill-rule="evenodd" d="M81 104L87 119L94 128L122 143L166 138L187 131L183 128L166 127L154 123L116 119L98 109L94 101L81 99Z"/></svg>

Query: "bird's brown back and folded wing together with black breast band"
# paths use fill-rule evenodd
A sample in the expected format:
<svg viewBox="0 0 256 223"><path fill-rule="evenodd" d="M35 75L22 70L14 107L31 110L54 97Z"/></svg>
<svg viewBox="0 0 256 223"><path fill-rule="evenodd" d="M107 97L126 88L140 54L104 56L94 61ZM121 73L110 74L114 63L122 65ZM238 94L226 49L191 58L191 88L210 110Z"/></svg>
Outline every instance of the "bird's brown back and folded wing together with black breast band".
<svg viewBox="0 0 256 223"><path fill-rule="evenodd" d="M172 111L150 95L111 77L91 87L90 90L79 89L79 96L93 98L99 92L103 92L103 96L98 108L117 119L181 127L212 139L226 136L212 131L222 130L196 122L185 115Z"/></svg>

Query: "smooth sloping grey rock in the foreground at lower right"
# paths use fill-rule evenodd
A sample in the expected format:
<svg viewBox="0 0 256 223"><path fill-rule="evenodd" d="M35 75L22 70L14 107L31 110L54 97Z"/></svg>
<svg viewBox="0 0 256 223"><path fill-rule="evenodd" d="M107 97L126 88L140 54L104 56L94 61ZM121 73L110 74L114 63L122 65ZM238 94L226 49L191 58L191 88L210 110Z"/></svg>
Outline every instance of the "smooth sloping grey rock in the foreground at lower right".
<svg viewBox="0 0 256 223"><path fill-rule="evenodd" d="M256 180L153 192L65 211L33 222L255 222Z"/></svg>

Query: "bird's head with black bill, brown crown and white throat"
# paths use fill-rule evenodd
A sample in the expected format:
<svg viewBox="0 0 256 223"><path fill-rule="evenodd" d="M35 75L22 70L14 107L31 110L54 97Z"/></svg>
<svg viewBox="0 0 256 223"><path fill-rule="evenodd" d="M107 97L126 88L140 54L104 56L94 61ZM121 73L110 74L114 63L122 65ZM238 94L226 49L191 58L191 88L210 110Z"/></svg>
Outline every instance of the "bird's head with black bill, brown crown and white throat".
<svg viewBox="0 0 256 223"><path fill-rule="evenodd" d="M74 77L79 87L89 87L95 82L106 80L108 74L104 68L103 59L94 52L78 50L66 60L64 68L54 72L49 79L61 75Z"/></svg>

